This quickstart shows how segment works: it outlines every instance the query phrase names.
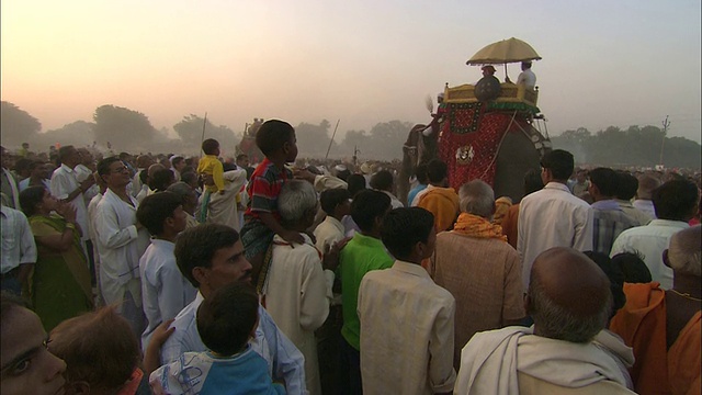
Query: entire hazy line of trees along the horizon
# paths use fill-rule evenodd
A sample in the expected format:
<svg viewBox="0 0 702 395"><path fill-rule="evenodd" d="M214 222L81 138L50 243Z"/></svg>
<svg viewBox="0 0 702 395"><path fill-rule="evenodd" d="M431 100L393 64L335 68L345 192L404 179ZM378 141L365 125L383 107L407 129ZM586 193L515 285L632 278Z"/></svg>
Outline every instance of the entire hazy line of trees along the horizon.
<svg viewBox="0 0 702 395"><path fill-rule="evenodd" d="M204 127L206 138L216 138L223 147L223 154L234 156L235 147L245 132L189 114L172 125L178 136L172 138L168 128L156 128L145 114L112 104L97 108L92 122L76 121L42 133L42 124L37 119L2 101L0 122L3 146L19 147L26 142L36 150L48 150L56 143L90 146L94 142L100 147L111 143L117 151L195 155L200 151ZM302 122L293 126L301 158L325 157L328 150L330 158L351 158L358 153L361 160L393 160L401 159L403 144L414 124L395 120L380 122L370 131L339 129L333 142L335 127L327 120L318 124ZM555 148L571 151L580 163L653 167L659 162L661 147L666 167L697 169L702 159L700 144L683 137L665 136L656 126L630 126L627 129L610 126L597 133L580 127L565 131L551 139Z"/></svg>

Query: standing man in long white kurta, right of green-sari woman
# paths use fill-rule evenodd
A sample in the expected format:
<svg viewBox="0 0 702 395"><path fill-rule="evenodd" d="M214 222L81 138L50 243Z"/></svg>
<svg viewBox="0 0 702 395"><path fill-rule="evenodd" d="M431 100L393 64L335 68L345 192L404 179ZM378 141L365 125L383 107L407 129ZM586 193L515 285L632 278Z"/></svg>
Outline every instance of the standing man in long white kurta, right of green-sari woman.
<svg viewBox="0 0 702 395"><path fill-rule="evenodd" d="M95 207L95 233L100 246L100 285L106 304L117 304L117 312L132 325L135 335L144 330L139 258L149 244L149 236L137 227L138 203L126 192L129 172L118 159L106 158L98 163L98 172L107 184Z"/></svg>

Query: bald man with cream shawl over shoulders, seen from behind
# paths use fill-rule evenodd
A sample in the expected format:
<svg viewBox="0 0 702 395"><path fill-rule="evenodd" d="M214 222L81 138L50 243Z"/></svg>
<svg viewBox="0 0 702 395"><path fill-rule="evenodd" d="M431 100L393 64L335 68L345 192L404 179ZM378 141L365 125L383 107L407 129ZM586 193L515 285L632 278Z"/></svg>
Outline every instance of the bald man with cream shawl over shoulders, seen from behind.
<svg viewBox="0 0 702 395"><path fill-rule="evenodd" d="M524 304L534 326L476 334L462 351L454 394L633 394L611 357L627 348L602 331L610 283L587 256L564 247L539 255Z"/></svg>

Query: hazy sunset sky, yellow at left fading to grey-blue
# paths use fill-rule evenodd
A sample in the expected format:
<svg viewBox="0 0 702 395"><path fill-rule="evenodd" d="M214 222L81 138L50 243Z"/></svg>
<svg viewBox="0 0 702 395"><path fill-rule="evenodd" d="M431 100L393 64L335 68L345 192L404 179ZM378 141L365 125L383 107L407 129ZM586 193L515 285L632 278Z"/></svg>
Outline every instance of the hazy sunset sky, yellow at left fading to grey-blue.
<svg viewBox="0 0 702 395"><path fill-rule="evenodd" d="M2 0L2 100L43 131L99 105L157 128L204 115L369 131L428 122L427 94L475 83L465 61L509 37L533 70L548 132L660 126L700 142L700 0ZM519 65L509 67L512 80ZM503 70L498 68L498 77Z"/></svg>

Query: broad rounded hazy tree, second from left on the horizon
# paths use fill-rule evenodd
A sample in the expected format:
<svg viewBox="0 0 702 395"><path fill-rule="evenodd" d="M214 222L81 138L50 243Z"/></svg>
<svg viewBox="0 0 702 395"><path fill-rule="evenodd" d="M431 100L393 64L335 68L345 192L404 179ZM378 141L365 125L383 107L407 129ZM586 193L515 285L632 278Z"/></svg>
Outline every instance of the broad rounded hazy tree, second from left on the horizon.
<svg viewBox="0 0 702 395"><path fill-rule="evenodd" d="M156 128L143 113L112 104L101 105L93 114L95 140L111 143L115 151L150 147Z"/></svg>

